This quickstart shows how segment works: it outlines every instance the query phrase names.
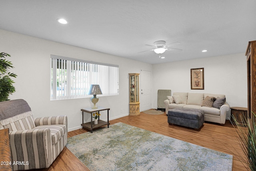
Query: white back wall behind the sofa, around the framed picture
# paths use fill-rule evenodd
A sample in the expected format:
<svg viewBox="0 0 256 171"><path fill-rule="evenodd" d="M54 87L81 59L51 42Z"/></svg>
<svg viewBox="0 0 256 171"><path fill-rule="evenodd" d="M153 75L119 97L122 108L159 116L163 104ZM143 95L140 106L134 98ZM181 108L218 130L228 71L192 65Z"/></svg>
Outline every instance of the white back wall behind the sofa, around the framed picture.
<svg viewBox="0 0 256 171"><path fill-rule="evenodd" d="M245 47L246 48L246 47ZM190 87L190 69L204 68L204 90ZM247 107L247 66L244 54L232 54L153 65L152 104L157 107L157 90L225 94L232 106ZM227 112L227 119L230 111Z"/></svg>

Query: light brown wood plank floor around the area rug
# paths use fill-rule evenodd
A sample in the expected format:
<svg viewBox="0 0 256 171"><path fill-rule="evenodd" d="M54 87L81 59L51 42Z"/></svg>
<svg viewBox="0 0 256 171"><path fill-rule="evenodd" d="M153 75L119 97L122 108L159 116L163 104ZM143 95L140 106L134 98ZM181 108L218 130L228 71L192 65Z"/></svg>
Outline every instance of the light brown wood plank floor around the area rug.
<svg viewBox="0 0 256 171"><path fill-rule="evenodd" d="M233 171L246 171L245 166L239 161L240 156L245 157L235 136L235 129L226 121L225 125L206 122L198 131L181 127L178 125L169 125L166 114L148 115L141 112L137 116L125 116L110 121L110 125L114 123L126 123L142 129L162 135L174 137L182 141L187 141L196 145L200 145L209 149L221 151L233 155ZM87 132L84 129L78 129L68 132L68 137ZM36 169L42 171L89 171L66 147L52 163L48 169Z"/></svg>

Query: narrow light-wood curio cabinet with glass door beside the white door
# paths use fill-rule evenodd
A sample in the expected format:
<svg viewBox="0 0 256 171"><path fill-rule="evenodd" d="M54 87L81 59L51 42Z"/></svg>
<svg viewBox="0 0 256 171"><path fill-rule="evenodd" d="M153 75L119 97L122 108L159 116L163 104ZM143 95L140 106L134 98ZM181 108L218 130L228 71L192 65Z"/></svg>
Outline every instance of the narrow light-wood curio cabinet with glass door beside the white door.
<svg viewBox="0 0 256 171"><path fill-rule="evenodd" d="M140 114L139 75L140 74L136 74L136 73L129 74L130 115Z"/></svg>

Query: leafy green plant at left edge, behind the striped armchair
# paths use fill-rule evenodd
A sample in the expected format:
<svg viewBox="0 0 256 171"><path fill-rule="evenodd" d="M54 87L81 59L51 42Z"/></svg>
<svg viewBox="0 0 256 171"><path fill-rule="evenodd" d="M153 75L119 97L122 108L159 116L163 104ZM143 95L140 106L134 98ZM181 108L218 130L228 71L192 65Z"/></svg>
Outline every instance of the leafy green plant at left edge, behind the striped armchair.
<svg viewBox="0 0 256 171"><path fill-rule="evenodd" d="M17 75L8 72L8 69L14 68L12 63L5 59L8 56L10 57L7 53L0 53L0 101L10 100L9 95L15 91L12 85L14 81L11 78L16 78Z"/></svg>

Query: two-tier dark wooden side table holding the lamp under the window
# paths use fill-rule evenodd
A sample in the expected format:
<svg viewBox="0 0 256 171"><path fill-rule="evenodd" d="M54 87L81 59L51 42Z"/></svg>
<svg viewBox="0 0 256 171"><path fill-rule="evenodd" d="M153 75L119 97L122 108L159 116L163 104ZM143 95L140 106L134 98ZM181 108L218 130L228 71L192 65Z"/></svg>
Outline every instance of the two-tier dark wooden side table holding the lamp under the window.
<svg viewBox="0 0 256 171"><path fill-rule="evenodd" d="M98 117L98 124L95 125L92 121L92 113L98 112L100 114L100 111L103 111L103 110L108 110L108 115L109 115L110 108L106 108L106 107L98 106L98 109L92 109L91 107L81 109L81 111L82 111L82 120L83 120L81 126L83 128L89 129L91 131L91 133L92 133L92 130L95 129L95 128L98 128L98 127L101 127L101 126L104 126L104 125L108 125L108 127L109 127L109 125L110 125L109 120L108 120L108 122L102 121L102 120L100 120L100 116ZM90 122L84 123L84 112L91 113L91 121Z"/></svg>

